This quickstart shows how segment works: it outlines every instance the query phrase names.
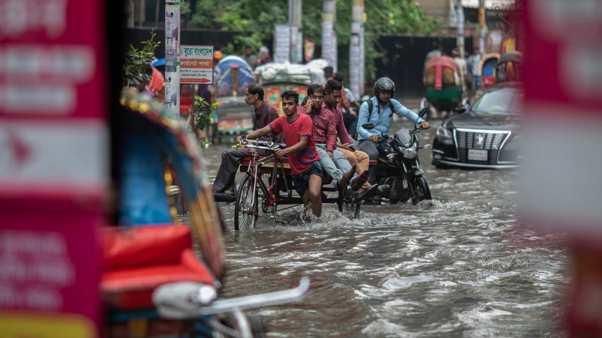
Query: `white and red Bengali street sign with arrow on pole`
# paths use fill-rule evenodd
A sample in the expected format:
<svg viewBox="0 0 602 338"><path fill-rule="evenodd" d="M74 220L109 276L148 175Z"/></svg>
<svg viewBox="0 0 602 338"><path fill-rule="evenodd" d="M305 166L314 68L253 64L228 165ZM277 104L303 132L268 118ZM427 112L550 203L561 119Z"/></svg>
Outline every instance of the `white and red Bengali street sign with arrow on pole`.
<svg viewBox="0 0 602 338"><path fill-rule="evenodd" d="M213 46L180 46L180 83L213 84Z"/></svg>

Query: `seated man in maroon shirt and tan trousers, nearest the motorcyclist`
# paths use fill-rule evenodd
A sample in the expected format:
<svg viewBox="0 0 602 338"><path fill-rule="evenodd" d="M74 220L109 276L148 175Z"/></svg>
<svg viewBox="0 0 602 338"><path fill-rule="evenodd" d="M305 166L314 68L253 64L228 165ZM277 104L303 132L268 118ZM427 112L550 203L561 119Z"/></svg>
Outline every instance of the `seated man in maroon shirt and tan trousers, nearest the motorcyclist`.
<svg viewBox="0 0 602 338"><path fill-rule="evenodd" d="M343 153L350 164L356 164L356 172L358 173L358 179L356 179L356 181L358 184L361 184L361 187L356 191L358 193L356 199L361 200L362 198L367 198L374 194L378 185L370 185L370 183L366 182L368 179L368 162L370 159L368 158L367 153L361 152L355 147L349 138L349 134L347 134L347 129L345 129L343 112L337 107L338 102L341 99L342 90L343 85L341 85L341 82L332 79L326 81L326 85L324 86L324 103L322 106L323 108L332 111L335 115L337 136L341 140L341 142L337 142L338 150Z"/></svg>

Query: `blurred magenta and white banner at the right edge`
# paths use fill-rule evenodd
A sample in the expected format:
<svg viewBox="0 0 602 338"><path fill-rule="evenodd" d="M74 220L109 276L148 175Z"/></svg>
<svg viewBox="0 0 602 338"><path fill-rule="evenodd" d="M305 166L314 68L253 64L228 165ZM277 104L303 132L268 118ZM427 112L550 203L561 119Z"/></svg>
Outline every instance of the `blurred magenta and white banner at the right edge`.
<svg viewBox="0 0 602 338"><path fill-rule="evenodd" d="M523 217L602 239L602 1L525 0Z"/></svg>

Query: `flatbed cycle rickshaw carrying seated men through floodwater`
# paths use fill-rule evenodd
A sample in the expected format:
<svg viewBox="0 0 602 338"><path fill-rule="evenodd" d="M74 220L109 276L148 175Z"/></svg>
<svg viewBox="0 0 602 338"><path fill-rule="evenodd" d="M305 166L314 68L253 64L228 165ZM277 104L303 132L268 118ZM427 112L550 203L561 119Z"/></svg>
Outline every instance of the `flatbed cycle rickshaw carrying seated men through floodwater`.
<svg viewBox="0 0 602 338"><path fill-rule="evenodd" d="M274 154L259 155L260 150L273 152L281 144L266 141L247 140L242 137L237 147L246 147L249 156L243 158L240 171L246 173L238 186L234 206L234 230L246 230L255 227L260 214L275 216L279 206L285 204L303 204L302 198L294 192L291 167L287 158L276 158ZM376 161L370 161L376 165ZM339 211L346 217L359 216L361 200L355 199L355 193L349 186L329 186L332 177L324 173L322 192L338 192L336 197L324 197L322 203L337 203ZM293 195L295 194L295 195ZM288 209L282 208L280 210Z"/></svg>

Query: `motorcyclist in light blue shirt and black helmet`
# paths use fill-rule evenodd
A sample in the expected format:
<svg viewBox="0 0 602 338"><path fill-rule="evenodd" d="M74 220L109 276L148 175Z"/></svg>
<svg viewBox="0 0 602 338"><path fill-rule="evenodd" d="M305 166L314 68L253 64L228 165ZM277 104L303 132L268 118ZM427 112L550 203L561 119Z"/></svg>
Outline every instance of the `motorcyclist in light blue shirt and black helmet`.
<svg viewBox="0 0 602 338"><path fill-rule="evenodd" d="M374 97L370 97L359 108L358 114L358 141L359 149L368 154L371 161L378 159L378 139L389 135L393 124L393 114L397 114L420 124L423 129L429 129L429 123L418 116L414 111L403 106L398 100L392 99L395 93L395 84L389 78L380 78L374 82ZM369 106L372 106L370 111ZM371 123L374 128L366 129L365 124ZM376 180L376 166L368 169L368 182Z"/></svg>

